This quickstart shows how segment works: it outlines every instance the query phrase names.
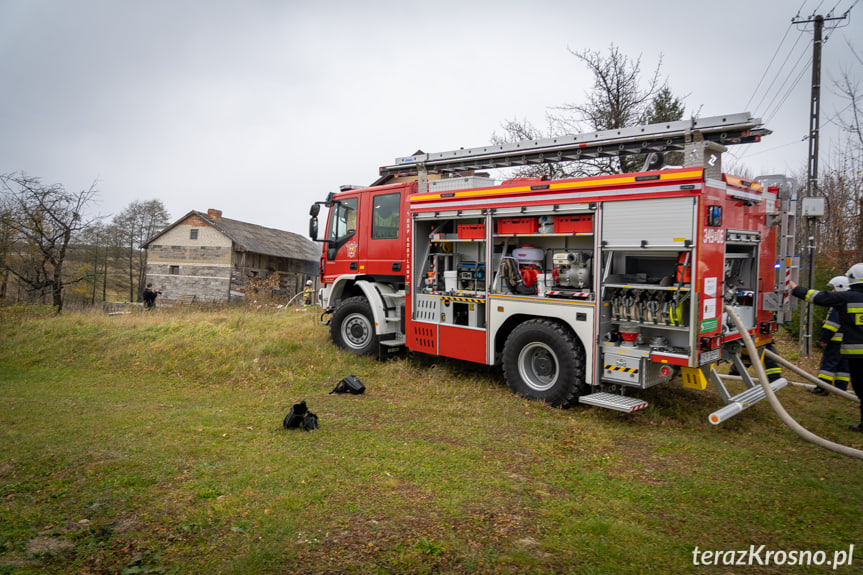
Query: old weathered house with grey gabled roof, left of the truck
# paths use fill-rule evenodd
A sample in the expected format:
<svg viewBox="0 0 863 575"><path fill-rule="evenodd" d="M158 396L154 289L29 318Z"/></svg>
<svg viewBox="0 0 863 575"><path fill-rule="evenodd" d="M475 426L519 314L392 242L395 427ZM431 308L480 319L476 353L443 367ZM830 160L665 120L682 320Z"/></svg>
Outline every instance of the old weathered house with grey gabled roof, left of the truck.
<svg viewBox="0 0 863 575"><path fill-rule="evenodd" d="M225 302L243 299L278 272L287 296L307 280L317 287L321 248L299 234L222 217L220 210L191 211L145 245L147 282L164 300Z"/></svg>

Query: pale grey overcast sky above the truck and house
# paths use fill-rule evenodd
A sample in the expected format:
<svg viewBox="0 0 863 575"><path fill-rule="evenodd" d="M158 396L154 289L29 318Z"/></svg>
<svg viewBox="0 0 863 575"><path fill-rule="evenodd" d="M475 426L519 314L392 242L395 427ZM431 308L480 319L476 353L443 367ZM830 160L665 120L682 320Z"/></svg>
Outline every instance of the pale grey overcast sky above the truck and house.
<svg viewBox="0 0 863 575"><path fill-rule="evenodd" d="M305 234L312 202L398 156L583 102L569 51L611 43L646 73L661 56L687 116L766 120L740 165L797 173L812 25L791 19L854 2L0 0L0 173L96 182L103 215L159 199L172 220L217 208ZM847 105L833 82L863 77L861 22L858 4L824 46L822 166Z"/></svg>

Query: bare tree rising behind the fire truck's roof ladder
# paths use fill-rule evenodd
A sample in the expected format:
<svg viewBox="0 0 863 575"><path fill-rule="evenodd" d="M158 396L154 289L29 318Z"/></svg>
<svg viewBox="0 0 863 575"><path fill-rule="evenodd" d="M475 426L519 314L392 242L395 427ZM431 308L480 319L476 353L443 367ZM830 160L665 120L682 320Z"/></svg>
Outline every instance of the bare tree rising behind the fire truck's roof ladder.
<svg viewBox="0 0 863 575"><path fill-rule="evenodd" d="M509 120L503 124L503 135L492 135L492 143L501 145L521 140L552 138L565 134L613 130L643 123L679 120L683 117L683 102L661 80L662 60L644 80L641 57L631 59L611 44L608 53L584 50L573 52L593 74L593 86L585 93L581 104L563 104L552 108L546 116L546 130L539 130L527 121ZM520 169L520 175L581 177L597 174L631 172L641 168L643 156L597 159L571 164L549 164Z"/></svg>

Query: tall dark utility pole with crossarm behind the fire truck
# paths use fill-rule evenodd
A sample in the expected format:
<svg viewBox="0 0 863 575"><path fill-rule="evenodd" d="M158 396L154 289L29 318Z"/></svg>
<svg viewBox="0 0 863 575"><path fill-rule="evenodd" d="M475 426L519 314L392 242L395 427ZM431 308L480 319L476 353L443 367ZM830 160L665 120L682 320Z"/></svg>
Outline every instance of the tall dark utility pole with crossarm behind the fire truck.
<svg viewBox="0 0 863 575"><path fill-rule="evenodd" d="M793 24L808 24L815 25L814 36L812 40L812 96L809 100L809 157L807 159L806 170L806 198L803 200L803 216L806 218L806 241L808 250L808 265L809 265L809 288L815 287L815 222L813 218L823 216L823 204L818 206L818 136L820 132L820 113L821 113L821 46L823 41L824 23L836 22L830 29L836 28L839 22L848 18L846 11L842 16L832 16L828 14L826 17L818 14L810 17L808 20L802 20L798 17L792 18ZM820 199L823 201L823 199ZM808 204L808 205L807 205ZM814 308L811 303L806 302L806 326L800 330L800 352L809 356L812 354L812 318ZM801 326L803 318L800 319Z"/></svg>

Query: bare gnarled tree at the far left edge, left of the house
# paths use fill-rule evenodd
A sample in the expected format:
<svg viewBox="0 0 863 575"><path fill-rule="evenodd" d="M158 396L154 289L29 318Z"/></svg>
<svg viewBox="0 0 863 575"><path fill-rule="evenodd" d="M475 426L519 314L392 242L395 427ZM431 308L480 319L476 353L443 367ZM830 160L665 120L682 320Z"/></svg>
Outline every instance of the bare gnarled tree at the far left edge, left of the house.
<svg viewBox="0 0 863 575"><path fill-rule="evenodd" d="M85 218L97 194L96 185L73 193L61 184L47 186L39 178L13 173L0 175L0 192L10 210L7 224L13 234L4 268L27 287L33 299L49 295L59 313L64 287L80 279L63 275L69 245L98 219Z"/></svg>

